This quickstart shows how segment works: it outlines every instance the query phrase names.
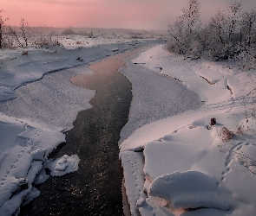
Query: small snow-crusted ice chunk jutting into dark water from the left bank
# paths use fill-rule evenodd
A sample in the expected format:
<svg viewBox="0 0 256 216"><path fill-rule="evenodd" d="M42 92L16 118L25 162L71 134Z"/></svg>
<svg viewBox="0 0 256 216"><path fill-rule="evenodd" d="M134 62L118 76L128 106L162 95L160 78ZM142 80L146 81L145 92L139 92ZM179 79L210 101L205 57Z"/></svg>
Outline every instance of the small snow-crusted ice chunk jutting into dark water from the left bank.
<svg viewBox="0 0 256 216"><path fill-rule="evenodd" d="M79 157L76 155L62 156L54 162L49 162L48 168L51 170L50 175L62 176L78 169Z"/></svg>

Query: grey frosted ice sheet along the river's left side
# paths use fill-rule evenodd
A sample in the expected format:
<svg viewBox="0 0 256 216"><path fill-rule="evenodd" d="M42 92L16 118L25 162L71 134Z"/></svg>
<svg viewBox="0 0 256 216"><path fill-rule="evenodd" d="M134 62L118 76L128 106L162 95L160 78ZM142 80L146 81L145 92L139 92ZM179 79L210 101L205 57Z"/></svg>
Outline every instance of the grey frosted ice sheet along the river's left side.
<svg viewBox="0 0 256 216"><path fill-rule="evenodd" d="M95 96L95 91L74 86L69 79L88 73L92 72L86 67L49 73L43 79L16 89L17 98L1 104L0 111L70 130L78 112L91 107L89 100Z"/></svg>

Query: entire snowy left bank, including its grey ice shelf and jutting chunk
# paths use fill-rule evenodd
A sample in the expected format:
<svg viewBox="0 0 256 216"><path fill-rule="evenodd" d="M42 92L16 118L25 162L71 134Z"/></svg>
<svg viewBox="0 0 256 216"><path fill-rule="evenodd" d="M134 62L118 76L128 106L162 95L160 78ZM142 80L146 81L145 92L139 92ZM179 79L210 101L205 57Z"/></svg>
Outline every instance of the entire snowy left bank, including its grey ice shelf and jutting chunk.
<svg viewBox="0 0 256 216"><path fill-rule="evenodd" d="M98 46L101 44L101 46ZM77 170L78 156L48 158L63 131L73 127L78 111L91 107L95 91L74 86L69 79L93 73L91 62L142 46L144 41L79 48L26 48L0 52L0 215L18 213L22 202L40 192L32 183L49 175ZM81 45L81 44L80 44ZM23 52L28 53L23 55Z"/></svg>

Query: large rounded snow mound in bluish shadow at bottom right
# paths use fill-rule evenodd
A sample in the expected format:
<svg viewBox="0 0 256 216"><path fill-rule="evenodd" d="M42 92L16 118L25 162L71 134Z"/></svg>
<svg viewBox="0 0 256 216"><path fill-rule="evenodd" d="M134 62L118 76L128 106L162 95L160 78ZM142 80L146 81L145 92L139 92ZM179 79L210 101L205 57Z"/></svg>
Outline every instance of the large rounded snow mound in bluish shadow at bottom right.
<svg viewBox="0 0 256 216"><path fill-rule="evenodd" d="M213 177L198 171L162 175L152 182L148 194L170 200L174 208L233 208L233 197Z"/></svg>

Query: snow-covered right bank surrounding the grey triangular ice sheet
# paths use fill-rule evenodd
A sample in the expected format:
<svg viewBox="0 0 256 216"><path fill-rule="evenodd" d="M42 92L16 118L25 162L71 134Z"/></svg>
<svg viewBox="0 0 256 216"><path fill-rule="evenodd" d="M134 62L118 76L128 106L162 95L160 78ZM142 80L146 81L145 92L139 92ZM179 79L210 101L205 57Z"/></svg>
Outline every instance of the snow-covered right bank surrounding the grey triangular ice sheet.
<svg viewBox="0 0 256 216"><path fill-rule="evenodd" d="M132 215L255 215L255 71L184 60L162 46L133 61L197 92L202 106L142 126L121 143ZM134 74L123 70L127 77ZM140 92L133 87L134 95ZM148 95L154 105L154 93Z"/></svg>

